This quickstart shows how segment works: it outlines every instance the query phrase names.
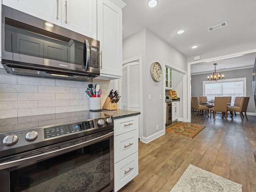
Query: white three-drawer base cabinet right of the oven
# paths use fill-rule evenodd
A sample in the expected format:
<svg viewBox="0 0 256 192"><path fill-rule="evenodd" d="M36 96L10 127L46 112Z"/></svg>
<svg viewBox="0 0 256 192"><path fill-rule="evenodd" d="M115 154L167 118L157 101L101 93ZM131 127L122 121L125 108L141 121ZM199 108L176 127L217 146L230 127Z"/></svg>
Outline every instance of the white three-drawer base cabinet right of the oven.
<svg viewBox="0 0 256 192"><path fill-rule="evenodd" d="M114 189L138 175L138 116L114 120Z"/></svg>

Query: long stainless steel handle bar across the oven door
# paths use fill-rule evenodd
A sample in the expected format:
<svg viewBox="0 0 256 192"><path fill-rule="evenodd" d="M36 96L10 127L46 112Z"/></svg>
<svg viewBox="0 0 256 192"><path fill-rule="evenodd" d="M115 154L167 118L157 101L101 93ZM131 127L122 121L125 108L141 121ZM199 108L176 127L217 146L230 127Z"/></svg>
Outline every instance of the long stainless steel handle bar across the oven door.
<svg viewBox="0 0 256 192"><path fill-rule="evenodd" d="M110 138L111 136L114 137L114 132L110 132L110 133L105 134L103 136L99 136L99 137L96 137L94 139L90 139L90 140L81 142L79 144L73 144L73 145L70 145L70 146L66 146L64 148L60 148L60 146L61 146L61 144L60 144L58 149L56 148L56 150L52 150L52 151L45 152L45 153L43 153L43 150L42 150L42 152L40 154L36 153L34 156L29 156L29 157L25 157L25 158L22 158L22 159L1 163L0 164L0 170L6 169L6 168L11 168L11 167L14 167L14 166L19 166L19 165L22 165L22 164L28 164L28 163L31 163L31 162L36 162L36 161L39 161L39 160L43 160L43 159L47 159L47 158L50 158L50 157L53 157L53 156L64 154L64 153L67 153L67 152L70 152L70 151L73 151L73 150L76 150L76 149L94 144L94 143L99 142L101 140L105 140L107 138Z"/></svg>

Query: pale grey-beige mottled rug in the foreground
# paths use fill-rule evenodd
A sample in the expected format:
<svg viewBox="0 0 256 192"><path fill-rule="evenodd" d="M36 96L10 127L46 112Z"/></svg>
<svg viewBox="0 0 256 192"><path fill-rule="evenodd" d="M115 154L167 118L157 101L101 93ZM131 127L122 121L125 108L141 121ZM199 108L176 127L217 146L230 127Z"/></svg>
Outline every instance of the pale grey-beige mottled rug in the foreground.
<svg viewBox="0 0 256 192"><path fill-rule="evenodd" d="M190 164L170 192L242 192L242 187Z"/></svg>

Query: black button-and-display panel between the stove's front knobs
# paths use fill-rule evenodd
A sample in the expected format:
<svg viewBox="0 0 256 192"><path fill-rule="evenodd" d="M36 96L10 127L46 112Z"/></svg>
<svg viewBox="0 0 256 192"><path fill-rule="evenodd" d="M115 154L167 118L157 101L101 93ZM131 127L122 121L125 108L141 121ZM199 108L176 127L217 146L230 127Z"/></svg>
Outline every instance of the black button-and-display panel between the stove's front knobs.
<svg viewBox="0 0 256 192"><path fill-rule="evenodd" d="M70 134L74 132L79 132L87 129L95 128L93 120L85 121L78 124L70 124L58 127L51 127L44 129L44 138L52 138L56 136L61 136L65 134Z"/></svg>

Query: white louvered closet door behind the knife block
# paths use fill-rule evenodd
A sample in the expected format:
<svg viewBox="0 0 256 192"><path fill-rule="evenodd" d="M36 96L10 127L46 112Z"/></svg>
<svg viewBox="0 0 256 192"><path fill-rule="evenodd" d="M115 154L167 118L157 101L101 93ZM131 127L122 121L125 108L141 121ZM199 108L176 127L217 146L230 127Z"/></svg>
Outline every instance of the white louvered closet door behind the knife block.
<svg viewBox="0 0 256 192"><path fill-rule="evenodd" d="M122 109L140 111L140 65L131 62L123 66ZM140 115L138 116L138 137L140 138Z"/></svg>

